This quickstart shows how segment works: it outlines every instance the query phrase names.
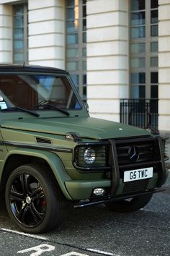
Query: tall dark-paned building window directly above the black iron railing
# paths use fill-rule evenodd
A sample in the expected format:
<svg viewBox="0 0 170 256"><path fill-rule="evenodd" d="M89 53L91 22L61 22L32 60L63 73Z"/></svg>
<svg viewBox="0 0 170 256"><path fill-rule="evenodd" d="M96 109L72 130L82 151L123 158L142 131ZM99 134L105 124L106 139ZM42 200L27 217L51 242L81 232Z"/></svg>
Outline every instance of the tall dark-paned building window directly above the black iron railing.
<svg viewBox="0 0 170 256"><path fill-rule="evenodd" d="M130 0L130 98L158 98L158 0Z"/></svg>

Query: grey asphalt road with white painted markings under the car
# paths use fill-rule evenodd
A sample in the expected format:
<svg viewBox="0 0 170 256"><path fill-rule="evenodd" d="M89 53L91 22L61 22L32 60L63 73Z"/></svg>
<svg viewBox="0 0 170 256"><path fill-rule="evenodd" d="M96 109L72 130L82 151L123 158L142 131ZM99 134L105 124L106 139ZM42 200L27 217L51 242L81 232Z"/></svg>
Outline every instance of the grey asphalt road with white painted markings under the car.
<svg viewBox="0 0 170 256"><path fill-rule="evenodd" d="M0 255L169 256L170 174L165 187L135 213L112 213L104 205L69 209L58 230L37 236L22 234L1 200Z"/></svg>

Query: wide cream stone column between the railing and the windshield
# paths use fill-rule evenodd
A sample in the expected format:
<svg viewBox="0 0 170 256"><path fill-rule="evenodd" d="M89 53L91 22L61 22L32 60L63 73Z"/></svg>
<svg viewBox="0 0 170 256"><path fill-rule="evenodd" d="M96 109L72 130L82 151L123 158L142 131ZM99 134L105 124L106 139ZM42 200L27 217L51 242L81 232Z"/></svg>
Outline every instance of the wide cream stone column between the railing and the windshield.
<svg viewBox="0 0 170 256"><path fill-rule="evenodd" d="M89 0L86 7L89 114L120 121L120 98L128 98L128 0Z"/></svg>

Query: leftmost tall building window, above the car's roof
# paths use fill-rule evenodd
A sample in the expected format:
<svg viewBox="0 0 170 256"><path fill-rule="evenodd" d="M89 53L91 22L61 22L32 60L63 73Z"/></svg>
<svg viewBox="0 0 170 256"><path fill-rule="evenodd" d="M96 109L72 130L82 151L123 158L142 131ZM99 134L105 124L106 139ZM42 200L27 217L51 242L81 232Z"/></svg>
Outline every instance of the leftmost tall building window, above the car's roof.
<svg viewBox="0 0 170 256"><path fill-rule="evenodd" d="M15 5L13 17L13 62L16 64L27 63L27 4Z"/></svg>

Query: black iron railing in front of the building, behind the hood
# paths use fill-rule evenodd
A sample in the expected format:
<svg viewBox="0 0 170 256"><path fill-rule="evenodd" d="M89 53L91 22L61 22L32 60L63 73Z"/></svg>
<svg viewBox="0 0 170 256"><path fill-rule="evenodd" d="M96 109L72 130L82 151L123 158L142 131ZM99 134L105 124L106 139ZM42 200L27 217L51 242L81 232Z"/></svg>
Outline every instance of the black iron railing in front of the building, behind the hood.
<svg viewBox="0 0 170 256"><path fill-rule="evenodd" d="M121 99L120 122L158 131L158 99Z"/></svg>

